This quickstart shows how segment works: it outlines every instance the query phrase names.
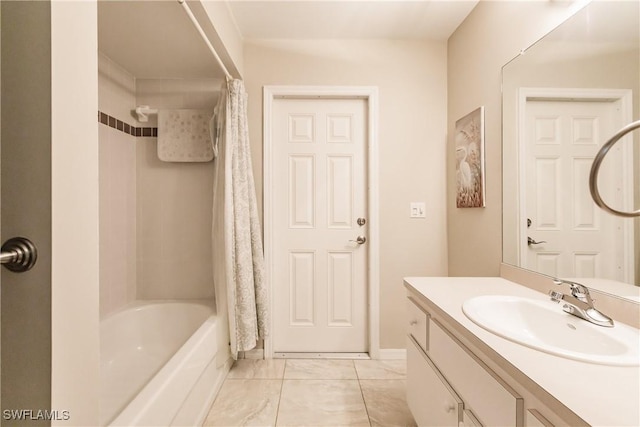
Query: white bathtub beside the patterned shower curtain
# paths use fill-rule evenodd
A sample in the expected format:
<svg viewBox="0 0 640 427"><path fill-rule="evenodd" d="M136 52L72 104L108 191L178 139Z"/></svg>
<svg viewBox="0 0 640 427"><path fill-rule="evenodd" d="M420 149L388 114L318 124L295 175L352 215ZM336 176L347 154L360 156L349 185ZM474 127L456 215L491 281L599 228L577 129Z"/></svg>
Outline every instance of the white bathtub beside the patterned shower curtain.
<svg viewBox="0 0 640 427"><path fill-rule="evenodd" d="M212 304L137 301L100 322L100 424L201 425L217 367Z"/></svg>

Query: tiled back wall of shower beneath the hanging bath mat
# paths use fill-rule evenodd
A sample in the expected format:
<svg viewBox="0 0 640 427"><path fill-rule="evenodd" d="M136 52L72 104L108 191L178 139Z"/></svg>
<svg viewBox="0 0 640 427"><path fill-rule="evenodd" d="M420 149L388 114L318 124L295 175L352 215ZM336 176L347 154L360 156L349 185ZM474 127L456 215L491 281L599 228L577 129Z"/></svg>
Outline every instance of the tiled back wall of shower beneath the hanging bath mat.
<svg viewBox="0 0 640 427"><path fill-rule="evenodd" d="M211 298L212 163L166 163L137 142L137 297Z"/></svg>

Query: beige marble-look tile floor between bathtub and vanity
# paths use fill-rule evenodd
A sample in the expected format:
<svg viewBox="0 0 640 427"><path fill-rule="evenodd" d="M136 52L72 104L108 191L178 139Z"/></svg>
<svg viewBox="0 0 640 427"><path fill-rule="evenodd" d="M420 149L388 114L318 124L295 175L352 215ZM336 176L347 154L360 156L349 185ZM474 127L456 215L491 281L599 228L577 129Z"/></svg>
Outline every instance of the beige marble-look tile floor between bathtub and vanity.
<svg viewBox="0 0 640 427"><path fill-rule="evenodd" d="M415 426L404 360L238 360L204 426Z"/></svg>

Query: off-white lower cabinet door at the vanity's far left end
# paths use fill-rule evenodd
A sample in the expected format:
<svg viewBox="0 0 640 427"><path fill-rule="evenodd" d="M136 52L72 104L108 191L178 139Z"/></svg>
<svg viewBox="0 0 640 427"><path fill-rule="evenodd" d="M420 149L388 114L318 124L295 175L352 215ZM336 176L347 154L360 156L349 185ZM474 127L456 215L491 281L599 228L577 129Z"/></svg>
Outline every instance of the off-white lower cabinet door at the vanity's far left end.
<svg viewBox="0 0 640 427"><path fill-rule="evenodd" d="M462 421L462 400L411 336L407 342L407 403L420 427L457 427Z"/></svg>

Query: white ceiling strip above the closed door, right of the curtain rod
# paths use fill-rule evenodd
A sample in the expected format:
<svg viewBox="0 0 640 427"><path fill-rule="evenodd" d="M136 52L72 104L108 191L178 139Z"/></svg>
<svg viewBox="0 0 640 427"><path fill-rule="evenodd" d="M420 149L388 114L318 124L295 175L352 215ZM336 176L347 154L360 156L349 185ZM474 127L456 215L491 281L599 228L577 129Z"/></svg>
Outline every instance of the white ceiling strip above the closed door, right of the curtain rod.
<svg viewBox="0 0 640 427"><path fill-rule="evenodd" d="M232 0L245 39L447 40L478 1Z"/></svg>

